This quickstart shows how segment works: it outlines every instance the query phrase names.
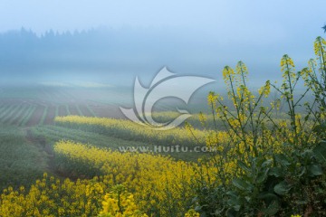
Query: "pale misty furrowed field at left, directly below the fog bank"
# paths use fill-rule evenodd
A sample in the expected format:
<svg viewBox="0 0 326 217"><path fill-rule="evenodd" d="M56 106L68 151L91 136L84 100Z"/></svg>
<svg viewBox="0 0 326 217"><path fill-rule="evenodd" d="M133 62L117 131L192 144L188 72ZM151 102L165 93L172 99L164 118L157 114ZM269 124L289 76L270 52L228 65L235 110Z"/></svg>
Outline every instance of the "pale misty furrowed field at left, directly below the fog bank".
<svg viewBox="0 0 326 217"><path fill-rule="evenodd" d="M101 92L103 99L93 97ZM56 116L122 118L119 106L106 99L106 90L3 89L0 92L0 123L16 127L53 125ZM118 93L117 93L118 94ZM117 95L115 94L115 95ZM121 96L121 99L124 97Z"/></svg>

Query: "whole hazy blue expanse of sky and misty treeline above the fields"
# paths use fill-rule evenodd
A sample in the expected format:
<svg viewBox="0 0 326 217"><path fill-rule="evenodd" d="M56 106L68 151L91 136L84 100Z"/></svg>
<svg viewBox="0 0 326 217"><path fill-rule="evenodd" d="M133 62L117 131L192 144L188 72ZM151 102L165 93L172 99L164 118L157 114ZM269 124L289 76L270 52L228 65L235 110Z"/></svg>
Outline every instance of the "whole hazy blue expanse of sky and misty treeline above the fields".
<svg viewBox="0 0 326 217"><path fill-rule="evenodd" d="M292 3L2 1L0 84L132 86L162 67L222 84L225 65L244 61L260 86L281 79L285 53L300 71L324 35L326 3Z"/></svg>

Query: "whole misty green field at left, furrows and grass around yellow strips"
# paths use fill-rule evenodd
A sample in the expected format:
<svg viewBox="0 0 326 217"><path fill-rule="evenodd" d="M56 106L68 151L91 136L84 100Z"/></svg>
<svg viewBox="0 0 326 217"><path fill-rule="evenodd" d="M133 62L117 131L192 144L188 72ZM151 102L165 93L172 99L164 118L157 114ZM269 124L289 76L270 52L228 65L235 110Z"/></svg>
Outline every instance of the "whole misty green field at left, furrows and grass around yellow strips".
<svg viewBox="0 0 326 217"><path fill-rule="evenodd" d="M99 97L99 95L101 95ZM109 95L109 96L107 96ZM126 96L110 90L54 89L47 87L4 88L0 92L0 188L18 188L33 184L43 172L60 178L71 177L58 171L53 164L53 145L63 140L72 140L93 146L119 150L120 146L149 147L156 145L147 139L136 139L129 133L119 135L100 132L88 127L64 126L54 122L61 116L84 116L124 118L119 105ZM166 107L162 106L162 109ZM156 113L158 121L174 118L176 113ZM196 117L189 120L200 126ZM164 144L162 141L161 144ZM144 149L148 150L148 149ZM162 153L176 159L196 161L203 154ZM76 177L74 177L76 178Z"/></svg>

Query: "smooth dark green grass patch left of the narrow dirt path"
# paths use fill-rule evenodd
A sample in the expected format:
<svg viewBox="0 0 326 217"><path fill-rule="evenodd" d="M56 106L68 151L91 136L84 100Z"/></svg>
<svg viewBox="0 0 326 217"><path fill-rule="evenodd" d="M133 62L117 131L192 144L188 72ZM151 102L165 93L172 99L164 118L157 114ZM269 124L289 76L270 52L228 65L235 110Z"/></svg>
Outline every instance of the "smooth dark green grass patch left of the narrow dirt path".
<svg viewBox="0 0 326 217"><path fill-rule="evenodd" d="M20 127L0 126L0 189L28 186L46 170L46 157Z"/></svg>

